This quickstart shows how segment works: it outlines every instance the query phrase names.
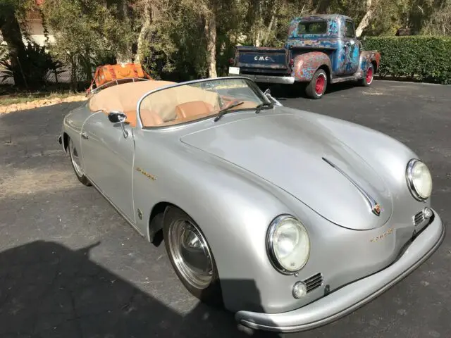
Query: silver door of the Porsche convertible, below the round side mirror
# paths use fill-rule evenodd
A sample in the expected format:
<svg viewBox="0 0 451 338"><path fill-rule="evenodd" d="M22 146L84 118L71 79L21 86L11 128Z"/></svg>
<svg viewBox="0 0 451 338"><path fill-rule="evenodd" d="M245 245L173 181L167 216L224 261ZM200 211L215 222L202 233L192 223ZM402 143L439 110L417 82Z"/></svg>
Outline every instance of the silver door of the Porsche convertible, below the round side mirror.
<svg viewBox="0 0 451 338"><path fill-rule="evenodd" d="M85 173L101 193L130 222L135 223L132 196L135 159L133 128L127 123L111 123L108 115L99 112L87 119L81 134Z"/></svg>

